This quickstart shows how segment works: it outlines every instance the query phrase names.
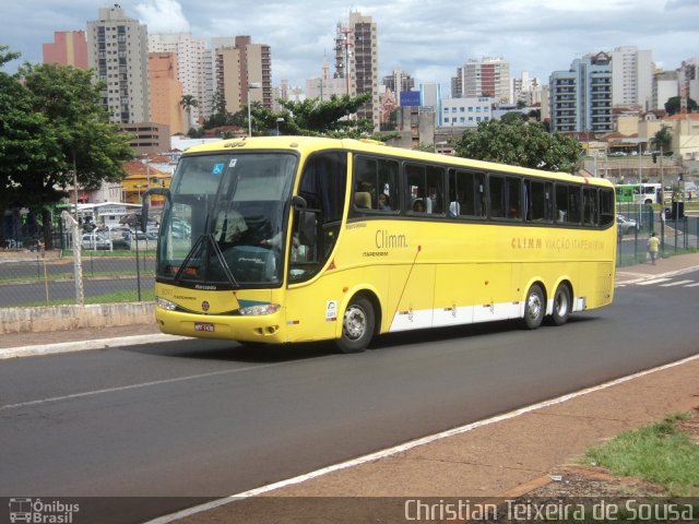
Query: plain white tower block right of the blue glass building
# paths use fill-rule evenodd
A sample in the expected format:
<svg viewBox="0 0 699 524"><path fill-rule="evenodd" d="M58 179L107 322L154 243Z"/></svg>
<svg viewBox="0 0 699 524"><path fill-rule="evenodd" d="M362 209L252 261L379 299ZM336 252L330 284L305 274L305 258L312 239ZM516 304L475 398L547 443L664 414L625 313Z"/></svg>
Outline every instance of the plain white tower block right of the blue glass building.
<svg viewBox="0 0 699 524"><path fill-rule="evenodd" d="M612 51L612 105L650 110L653 99L653 56L635 46Z"/></svg>

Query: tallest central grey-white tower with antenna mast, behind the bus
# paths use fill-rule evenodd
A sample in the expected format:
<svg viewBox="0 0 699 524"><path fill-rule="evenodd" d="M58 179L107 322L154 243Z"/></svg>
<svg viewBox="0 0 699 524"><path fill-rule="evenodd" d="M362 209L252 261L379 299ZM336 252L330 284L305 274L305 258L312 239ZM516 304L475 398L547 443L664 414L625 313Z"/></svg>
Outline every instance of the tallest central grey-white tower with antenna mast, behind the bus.
<svg viewBox="0 0 699 524"><path fill-rule="evenodd" d="M356 96L371 93L371 100L357 116L379 129L378 31L371 16L350 12L347 25L337 24L335 34L335 79L345 81L345 93Z"/></svg>

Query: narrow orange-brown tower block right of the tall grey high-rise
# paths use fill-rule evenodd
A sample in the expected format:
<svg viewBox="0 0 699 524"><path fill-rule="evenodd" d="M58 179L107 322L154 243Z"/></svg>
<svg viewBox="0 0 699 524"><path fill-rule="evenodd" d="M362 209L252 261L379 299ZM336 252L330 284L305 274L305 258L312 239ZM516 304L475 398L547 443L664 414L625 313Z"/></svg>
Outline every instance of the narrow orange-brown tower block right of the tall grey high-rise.
<svg viewBox="0 0 699 524"><path fill-rule="evenodd" d="M173 134L187 133L191 122L182 118L182 84L177 74L177 55L150 52L149 81L152 120L168 126Z"/></svg>

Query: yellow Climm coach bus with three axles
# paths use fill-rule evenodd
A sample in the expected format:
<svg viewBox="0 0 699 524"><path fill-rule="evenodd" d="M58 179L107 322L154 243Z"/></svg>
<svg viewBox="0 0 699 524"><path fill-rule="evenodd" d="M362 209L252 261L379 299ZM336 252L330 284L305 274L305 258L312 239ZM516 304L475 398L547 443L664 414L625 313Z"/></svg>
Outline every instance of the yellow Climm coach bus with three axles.
<svg viewBox="0 0 699 524"><path fill-rule="evenodd" d="M236 139L188 150L156 263L164 333L335 341L521 319L614 294L614 187L355 140ZM142 216L147 216L144 199Z"/></svg>

